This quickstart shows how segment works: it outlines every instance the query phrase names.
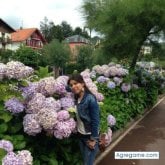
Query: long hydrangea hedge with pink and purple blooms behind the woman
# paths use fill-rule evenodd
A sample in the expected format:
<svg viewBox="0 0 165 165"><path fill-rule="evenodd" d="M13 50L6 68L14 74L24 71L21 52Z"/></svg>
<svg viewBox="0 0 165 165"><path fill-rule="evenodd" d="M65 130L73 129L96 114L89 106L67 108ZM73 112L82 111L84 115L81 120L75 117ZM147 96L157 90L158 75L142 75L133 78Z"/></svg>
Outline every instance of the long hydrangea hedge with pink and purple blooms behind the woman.
<svg viewBox="0 0 165 165"><path fill-rule="evenodd" d="M28 149L34 155L34 165L81 164L74 135L77 131L74 97L67 90L69 77L49 76L33 81L29 78L33 72L20 62L0 63L0 138L10 140L16 151ZM130 76L126 68L114 63L94 66L81 75L99 102L100 131L105 133L107 145L112 132L143 113L153 93L164 88L163 74L136 70ZM146 90L147 84L154 90ZM11 143L4 144L6 152L10 151L4 161L22 161L18 157L23 155L27 156L25 164L30 160L29 153L14 153Z"/></svg>

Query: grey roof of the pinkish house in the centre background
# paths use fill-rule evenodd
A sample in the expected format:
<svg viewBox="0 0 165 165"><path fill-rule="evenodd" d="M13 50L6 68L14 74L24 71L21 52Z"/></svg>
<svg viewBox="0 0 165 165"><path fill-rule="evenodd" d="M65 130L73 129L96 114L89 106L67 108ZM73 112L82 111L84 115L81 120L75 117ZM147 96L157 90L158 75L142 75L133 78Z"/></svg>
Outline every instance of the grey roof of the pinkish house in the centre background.
<svg viewBox="0 0 165 165"><path fill-rule="evenodd" d="M86 39L80 35L73 35L73 36L67 37L66 41L69 43L78 43L78 42L86 43L86 44L90 43L90 41L88 39Z"/></svg>

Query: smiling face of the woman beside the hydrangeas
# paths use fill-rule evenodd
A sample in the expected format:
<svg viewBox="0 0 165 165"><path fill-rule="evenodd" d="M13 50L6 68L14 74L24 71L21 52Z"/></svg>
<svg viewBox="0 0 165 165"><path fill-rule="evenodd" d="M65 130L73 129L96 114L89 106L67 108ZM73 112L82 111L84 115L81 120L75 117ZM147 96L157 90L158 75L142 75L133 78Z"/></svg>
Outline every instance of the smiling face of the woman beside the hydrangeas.
<svg viewBox="0 0 165 165"><path fill-rule="evenodd" d="M84 91L84 83L79 83L75 80L70 80L69 85L74 94L80 94L82 91Z"/></svg>

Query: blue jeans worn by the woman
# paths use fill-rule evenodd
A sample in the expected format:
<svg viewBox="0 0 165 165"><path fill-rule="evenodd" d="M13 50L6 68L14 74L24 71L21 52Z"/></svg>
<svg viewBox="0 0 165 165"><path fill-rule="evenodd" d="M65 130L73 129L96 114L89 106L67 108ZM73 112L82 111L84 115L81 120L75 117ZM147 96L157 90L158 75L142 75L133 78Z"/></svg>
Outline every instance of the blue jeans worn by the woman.
<svg viewBox="0 0 165 165"><path fill-rule="evenodd" d="M80 150L83 156L83 164L84 165L93 165L95 157L99 151L98 141L96 142L95 148L92 150L87 146L87 141L89 140L89 136L80 137Z"/></svg>

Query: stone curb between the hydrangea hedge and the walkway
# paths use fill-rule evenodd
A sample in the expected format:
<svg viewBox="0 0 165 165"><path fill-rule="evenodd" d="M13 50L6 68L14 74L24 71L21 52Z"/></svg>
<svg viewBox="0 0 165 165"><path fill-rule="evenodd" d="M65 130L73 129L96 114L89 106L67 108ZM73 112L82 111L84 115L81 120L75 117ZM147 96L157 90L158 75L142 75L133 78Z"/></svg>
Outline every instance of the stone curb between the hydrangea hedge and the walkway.
<svg viewBox="0 0 165 165"><path fill-rule="evenodd" d="M129 131L131 131L148 113L150 113L160 102L165 99L165 94L158 97L157 103L150 108L149 110L146 109L142 116L137 116L135 119L130 121L125 128L118 130L113 133L111 144L106 148L106 150L102 153L99 153L96 160L95 165L100 163L100 161L128 134Z"/></svg>

